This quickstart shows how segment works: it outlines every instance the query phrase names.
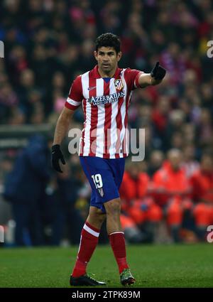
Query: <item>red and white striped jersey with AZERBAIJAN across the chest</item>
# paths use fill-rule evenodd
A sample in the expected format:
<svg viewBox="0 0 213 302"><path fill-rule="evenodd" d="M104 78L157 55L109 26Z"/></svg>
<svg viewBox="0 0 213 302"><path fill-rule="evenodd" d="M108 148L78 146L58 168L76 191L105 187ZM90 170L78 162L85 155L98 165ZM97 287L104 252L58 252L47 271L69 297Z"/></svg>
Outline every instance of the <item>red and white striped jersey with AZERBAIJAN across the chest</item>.
<svg viewBox="0 0 213 302"><path fill-rule="evenodd" d="M139 70L117 68L107 81L99 75L96 65L73 81L65 107L83 107L80 156L128 156L128 107L132 90L139 87L140 74Z"/></svg>

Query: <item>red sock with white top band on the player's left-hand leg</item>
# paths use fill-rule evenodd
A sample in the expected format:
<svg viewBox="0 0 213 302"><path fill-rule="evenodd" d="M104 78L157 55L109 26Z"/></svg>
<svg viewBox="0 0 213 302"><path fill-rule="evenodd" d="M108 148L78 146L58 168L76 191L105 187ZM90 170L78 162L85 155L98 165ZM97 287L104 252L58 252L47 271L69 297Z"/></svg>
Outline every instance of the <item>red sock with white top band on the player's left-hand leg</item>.
<svg viewBox="0 0 213 302"><path fill-rule="evenodd" d="M99 240L99 232L100 230L92 227L92 225L89 225L88 222L85 222L82 229L80 247L77 253L77 260L72 271L73 277L79 277L86 274L87 263L92 257L94 249L96 248Z"/></svg>

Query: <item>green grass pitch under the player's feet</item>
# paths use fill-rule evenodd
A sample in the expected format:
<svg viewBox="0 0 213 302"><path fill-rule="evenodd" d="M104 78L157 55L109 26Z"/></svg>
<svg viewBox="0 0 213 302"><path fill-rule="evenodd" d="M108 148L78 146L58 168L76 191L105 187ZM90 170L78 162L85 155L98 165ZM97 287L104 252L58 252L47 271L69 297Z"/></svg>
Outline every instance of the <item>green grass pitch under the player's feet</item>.
<svg viewBox="0 0 213 302"><path fill-rule="evenodd" d="M0 287L69 287L77 249L0 249ZM129 245L127 255L132 287L213 287L213 244ZM87 272L121 287L109 246L97 247Z"/></svg>

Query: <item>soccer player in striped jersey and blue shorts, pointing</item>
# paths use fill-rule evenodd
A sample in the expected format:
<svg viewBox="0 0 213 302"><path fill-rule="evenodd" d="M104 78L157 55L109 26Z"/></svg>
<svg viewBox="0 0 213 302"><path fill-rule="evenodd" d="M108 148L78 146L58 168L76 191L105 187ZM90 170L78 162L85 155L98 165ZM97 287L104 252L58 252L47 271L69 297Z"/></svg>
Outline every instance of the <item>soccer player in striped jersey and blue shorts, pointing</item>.
<svg viewBox="0 0 213 302"><path fill-rule="evenodd" d="M92 188L92 196L70 285L104 284L88 276L86 269L106 218L109 242L119 266L121 284L131 285L135 279L126 261L119 198L124 161L128 156L128 108L132 90L159 84L165 76L165 70L159 63L155 64L151 73L118 68L121 59L120 41L112 33L103 33L97 38L94 57L97 60L94 69L79 75L72 83L65 108L56 124L52 147L53 168L62 172L59 161L65 164L65 159L60 144L67 133L72 114L82 104L85 122L79 155Z"/></svg>

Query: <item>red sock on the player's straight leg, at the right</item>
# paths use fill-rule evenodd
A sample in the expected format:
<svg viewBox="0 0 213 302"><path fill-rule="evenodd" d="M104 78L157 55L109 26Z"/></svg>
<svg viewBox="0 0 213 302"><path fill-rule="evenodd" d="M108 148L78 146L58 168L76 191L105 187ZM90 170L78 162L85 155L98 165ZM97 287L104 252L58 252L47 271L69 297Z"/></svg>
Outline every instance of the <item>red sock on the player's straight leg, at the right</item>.
<svg viewBox="0 0 213 302"><path fill-rule="evenodd" d="M129 269L129 266L126 262L126 246L124 232L114 232L109 234L109 242L114 252L116 262L119 266L119 274L121 274L121 271L124 271L124 269Z"/></svg>

